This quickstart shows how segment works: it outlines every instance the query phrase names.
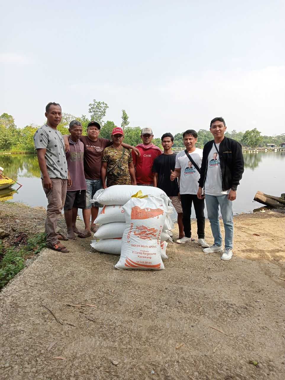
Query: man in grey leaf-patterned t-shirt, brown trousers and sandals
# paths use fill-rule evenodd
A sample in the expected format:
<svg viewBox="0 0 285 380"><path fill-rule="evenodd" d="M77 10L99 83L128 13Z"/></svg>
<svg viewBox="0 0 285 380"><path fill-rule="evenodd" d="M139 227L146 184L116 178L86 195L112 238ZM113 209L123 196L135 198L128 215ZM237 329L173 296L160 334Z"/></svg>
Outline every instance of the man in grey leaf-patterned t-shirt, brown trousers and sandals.
<svg viewBox="0 0 285 380"><path fill-rule="evenodd" d="M66 190L72 185L67 169L63 136L56 129L61 122L61 106L50 102L45 107L45 117L47 123L34 134L34 145L41 169L42 187L48 200L45 219L46 244L55 251L69 252L59 241L68 239L56 233L56 223L63 209Z"/></svg>

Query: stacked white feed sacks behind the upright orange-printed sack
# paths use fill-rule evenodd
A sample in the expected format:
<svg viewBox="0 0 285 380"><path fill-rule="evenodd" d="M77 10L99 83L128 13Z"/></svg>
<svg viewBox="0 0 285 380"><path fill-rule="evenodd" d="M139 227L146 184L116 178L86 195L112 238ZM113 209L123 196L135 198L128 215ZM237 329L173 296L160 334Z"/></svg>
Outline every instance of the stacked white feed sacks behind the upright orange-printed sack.
<svg viewBox="0 0 285 380"><path fill-rule="evenodd" d="M96 219L96 223L100 227L94 234L94 239L91 242L91 247L99 252L111 253L119 255L121 253L122 236L125 230L125 211L123 206L133 196L161 196L167 199L171 204L170 199L166 196L163 190L157 187L150 186L135 186L135 185L114 185L107 189L98 190L94 195L92 202L103 204L103 209ZM168 207L168 212L172 211L172 207ZM161 242L171 240L170 230L173 228L171 217L168 217L165 228L161 233ZM172 222L172 224L171 224ZM163 257L166 257L167 244L161 244Z"/></svg>

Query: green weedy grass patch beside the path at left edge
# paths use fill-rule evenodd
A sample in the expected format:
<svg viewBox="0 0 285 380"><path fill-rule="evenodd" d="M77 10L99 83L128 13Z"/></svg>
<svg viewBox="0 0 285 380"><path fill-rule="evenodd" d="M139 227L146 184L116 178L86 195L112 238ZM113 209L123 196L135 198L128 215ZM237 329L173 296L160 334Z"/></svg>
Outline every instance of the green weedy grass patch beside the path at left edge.
<svg viewBox="0 0 285 380"><path fill-rule="evenodd" d="M25 260L45 247L45 234L35 234L27 240L27 244L18 247L6 247L0 240L0 289L25 268Z"/></svg>

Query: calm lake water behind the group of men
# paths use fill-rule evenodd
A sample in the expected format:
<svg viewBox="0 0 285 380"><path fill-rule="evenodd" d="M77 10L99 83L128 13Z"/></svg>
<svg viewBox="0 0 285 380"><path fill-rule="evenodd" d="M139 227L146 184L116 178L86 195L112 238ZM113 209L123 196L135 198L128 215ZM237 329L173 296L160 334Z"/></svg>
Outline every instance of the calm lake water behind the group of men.
<svg viewBox="0 0 285 380"><path fill-rule="evenodd" d="M255 193L261 192L280 196L285 192L285 152L244 153L245 169L238 187L237 198L233 202L235 214L252 212L262 204L254 202ZM23 185L11 195L13 202L22 202L30 206L47 207L47 198L42 189L38 159L34 154L0 155L0 166L4 174ZM14 185L17 189L18 185ZM1 199L1 198L0 198ZM1 207L1 204L0 204ZM82 213L80 212L82 216ZM194 209L192 212L194 217ZM207 210L205 207L205 216Z"/></svg>

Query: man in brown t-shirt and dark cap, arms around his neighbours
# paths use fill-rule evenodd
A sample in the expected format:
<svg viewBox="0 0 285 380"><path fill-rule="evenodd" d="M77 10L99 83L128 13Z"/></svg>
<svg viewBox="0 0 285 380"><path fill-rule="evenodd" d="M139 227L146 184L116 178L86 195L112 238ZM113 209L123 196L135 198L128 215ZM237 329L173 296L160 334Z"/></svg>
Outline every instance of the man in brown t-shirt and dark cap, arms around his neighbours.
<svg viewBox="0 0 285 380"><path fill-rule="evenodd" d="M84 144L84 175L86 180L86 207L82 210L83 220L85 223L85 231L81 232L79 237L91 236L91 231L96 231L94 221L97 218L99 207L103 207L99 203L93 203L91 207L90 199L94 194L102 189L101 181L101 165L103 150L113 144L110 139L100 138L100 124L92 121L87 125L87 136L81 136L80 141ZM111 137L111 136L110 136ZM69 136L64 135L64 144L69 149ZM139 154L139 150L128 144L122 144L124 148L135 150ZM91 224L90 224L91 217Z"/></svg>

